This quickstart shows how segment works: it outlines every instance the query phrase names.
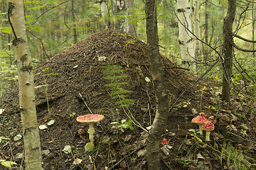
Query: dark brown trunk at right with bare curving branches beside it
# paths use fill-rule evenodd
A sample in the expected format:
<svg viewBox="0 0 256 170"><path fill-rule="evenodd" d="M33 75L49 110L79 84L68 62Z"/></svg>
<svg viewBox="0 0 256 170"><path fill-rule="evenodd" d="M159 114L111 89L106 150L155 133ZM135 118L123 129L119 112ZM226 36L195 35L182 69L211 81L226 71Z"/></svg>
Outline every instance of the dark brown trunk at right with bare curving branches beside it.
<svg viewBox="0 0 256 170"><path fill-rule="evenodd" d="M222 89L222 100L230 101L230 90L231 90L231 75L232 75L232 64L233 64L233 22L235 20L235 0L228 0L228 11L227 15L223 20L223 89Z"/></svg>

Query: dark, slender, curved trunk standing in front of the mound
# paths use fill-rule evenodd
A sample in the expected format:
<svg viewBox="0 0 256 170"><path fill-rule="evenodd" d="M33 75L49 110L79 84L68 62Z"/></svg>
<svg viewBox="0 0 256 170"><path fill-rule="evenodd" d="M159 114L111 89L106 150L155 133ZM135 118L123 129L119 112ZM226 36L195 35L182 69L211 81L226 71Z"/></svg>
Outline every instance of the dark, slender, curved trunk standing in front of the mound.
<svg viewBox="0 0 256 170"><path fill-rule="evenodd" d="M152 80L156 93L156 115L146 140L146 161L149 170L161 169L159 145L168 117L168 96L159 53L156 0L146 0L146 38L151 65Z"/></svg>

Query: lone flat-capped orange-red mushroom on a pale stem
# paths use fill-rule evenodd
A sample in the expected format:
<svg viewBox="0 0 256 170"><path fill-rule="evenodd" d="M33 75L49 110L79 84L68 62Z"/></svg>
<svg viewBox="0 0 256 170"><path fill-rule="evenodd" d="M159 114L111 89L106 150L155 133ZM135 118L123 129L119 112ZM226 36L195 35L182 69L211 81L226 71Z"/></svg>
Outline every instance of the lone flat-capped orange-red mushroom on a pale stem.
<svg viewBox="0 0 256 170"><path fill-rule="evenodd" d="M104 115L99 114L87 114L87 115L80 115L77 118L77 121L80 123L88 123L89 124L89 140L90 142L93 142L93 134L95 133L95 129L93 128L93 123L99 122L100 120L104 119Z"/></svg>

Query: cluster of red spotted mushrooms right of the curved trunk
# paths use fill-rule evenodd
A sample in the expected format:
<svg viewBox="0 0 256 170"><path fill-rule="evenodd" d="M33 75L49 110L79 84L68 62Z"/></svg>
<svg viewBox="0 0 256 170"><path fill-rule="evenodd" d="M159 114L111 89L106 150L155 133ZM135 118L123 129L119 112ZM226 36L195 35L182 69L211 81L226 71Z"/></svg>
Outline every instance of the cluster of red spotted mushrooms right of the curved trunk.
<svg viewBox="0 0 256 170"><path fill-rule="evenodd" d="M196 123L199 126L200 135L203 135L203 130L206 130L206 141L210 141L210 131L214 130L214 124L216 119L211 115L208 120L206 119L206 113L199 113L198 116L192 119L192 123Z"/></svg>

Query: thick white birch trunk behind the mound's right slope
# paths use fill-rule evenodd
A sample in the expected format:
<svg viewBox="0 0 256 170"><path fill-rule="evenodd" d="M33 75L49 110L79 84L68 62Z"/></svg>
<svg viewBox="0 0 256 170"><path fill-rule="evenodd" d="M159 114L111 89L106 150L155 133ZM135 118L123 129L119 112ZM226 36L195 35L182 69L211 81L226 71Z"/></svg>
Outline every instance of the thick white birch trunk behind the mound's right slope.
<svg viewBox="0 0 256 170"><path fill-rule="evenodd" d="M193 39L188 30L191 29L191 10L189 0L178 0L178 42L181 49L182 65L195 72Z"/></svg>

